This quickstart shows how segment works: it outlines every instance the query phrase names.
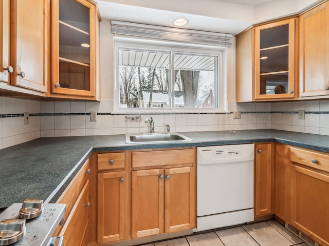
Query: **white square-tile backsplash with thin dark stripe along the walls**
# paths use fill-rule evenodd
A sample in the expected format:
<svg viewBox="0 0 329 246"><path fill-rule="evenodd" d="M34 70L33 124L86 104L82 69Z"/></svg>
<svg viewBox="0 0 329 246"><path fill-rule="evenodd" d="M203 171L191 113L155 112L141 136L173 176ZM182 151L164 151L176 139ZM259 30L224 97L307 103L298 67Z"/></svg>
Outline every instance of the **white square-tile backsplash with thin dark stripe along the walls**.
<svg viewBox="0 0 329 246"><path fill-rule="evenodd" d="M125 116L113 114L106 101L34 101L0 97L0 149L40 137L112 135L149 132L144 122L125 122ZM329 100L278 103L229 103L229 110L240 110L241 119L229 113L152 114L155 131L171 132L223 131L246 129L280 129L329 135ZM305 110L305 119L298 119ZM24 112L30 124L24 125ZM97 121L90 121L96 111Z"/></svg>

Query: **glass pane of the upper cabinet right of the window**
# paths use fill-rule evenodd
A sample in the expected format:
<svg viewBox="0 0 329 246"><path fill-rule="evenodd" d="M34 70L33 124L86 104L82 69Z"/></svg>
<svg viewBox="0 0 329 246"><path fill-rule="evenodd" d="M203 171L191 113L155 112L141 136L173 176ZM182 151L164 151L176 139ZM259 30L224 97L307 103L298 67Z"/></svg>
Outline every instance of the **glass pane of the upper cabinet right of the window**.
<svg viewBox="0 0 329 246"><path fill-rule="evenodd" d="M289 82L289 25L260 31L260 94L283 94Z"/></svg>

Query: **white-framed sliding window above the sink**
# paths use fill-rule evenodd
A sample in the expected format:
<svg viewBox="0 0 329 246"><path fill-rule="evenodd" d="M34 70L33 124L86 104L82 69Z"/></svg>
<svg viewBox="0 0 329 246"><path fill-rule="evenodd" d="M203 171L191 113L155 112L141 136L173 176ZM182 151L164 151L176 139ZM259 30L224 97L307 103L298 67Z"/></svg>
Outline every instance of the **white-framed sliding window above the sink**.
<svg viewBox="0 0 329 246"><path fill-rule="evenodd" d="M144 42L115 38L115 111L225 111L225 48Z"/></svg>

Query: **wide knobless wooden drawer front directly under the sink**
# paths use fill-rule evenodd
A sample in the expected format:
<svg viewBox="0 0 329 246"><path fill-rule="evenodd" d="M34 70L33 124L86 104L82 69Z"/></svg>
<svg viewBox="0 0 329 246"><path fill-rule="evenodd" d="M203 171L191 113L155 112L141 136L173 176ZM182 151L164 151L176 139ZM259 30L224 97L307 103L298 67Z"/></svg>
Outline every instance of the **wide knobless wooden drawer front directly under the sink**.
<svg viewBox="0 0 329 246"><path fill-rule="evenodd" d="M194 163L194 150L163 150L132 153L132 167L151 167Z"/></svg>

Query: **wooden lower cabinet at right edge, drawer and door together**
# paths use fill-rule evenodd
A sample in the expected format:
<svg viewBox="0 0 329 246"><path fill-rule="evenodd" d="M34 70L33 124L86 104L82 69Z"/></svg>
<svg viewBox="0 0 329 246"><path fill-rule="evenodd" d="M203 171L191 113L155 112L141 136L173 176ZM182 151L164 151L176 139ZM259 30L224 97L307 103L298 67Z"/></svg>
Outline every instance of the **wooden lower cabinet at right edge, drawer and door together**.
<svg viewBox="0 0 329 246"><path fill-rule="evenodd" d="M291 225L329 246L329 154L290 148Z"/></svg>

